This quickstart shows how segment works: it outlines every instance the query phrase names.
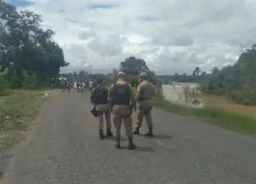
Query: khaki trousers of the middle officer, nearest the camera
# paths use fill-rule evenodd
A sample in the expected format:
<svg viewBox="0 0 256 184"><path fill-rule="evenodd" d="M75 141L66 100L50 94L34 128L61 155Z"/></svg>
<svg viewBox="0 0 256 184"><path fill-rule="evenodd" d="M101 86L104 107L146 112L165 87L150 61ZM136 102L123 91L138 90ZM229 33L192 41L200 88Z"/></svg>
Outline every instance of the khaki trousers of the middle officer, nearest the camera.
<svg viewBox="0 0 256 184"><path fill-rule="evenodd" d="M126 128L127 138L132 138L132 119L131 116L127 116L130 113L129 106L114 106L113 108L113 122L115 127L115 135L121 136L122 121Z"/></svg>

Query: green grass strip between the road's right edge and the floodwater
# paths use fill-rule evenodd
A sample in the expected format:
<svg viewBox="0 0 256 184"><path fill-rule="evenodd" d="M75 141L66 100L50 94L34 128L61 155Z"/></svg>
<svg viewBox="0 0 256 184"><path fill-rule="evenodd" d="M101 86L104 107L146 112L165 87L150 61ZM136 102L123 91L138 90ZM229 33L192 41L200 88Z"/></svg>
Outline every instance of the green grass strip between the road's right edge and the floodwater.
<svg viewBox="0 0 256 184"><path fill-rule="evenodd" d="M218 109L194 109L186 106L178 106L163 98L155 98L154 105L160 107L162 110L173 112L174 114L202 118L204 122L209 122L243 134L256 136L256 120L245 115L234 114Z"/></svg>

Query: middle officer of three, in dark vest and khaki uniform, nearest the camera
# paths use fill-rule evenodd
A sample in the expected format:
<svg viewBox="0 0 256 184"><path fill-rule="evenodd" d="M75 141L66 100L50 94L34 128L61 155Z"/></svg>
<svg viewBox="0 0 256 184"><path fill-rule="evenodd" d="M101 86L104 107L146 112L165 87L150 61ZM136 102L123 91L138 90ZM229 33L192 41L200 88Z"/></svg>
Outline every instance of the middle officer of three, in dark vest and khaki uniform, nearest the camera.
<svg viewBox="0 0 256 184"><path fill-rule="evenodd" d="M132 113L132 108L136 110L136 102L134 94L130 88L130 84L125 82L126 74L122 71L118 72L118 82L110 87L109 90L109 104L110 111L113 114L113 122L116 129L116 143L115 148L120 149L120 137L121 137L121 126L122 120L126 128L126 135L129 139L129 150L134 150L137 146L133 142L132 134L132 119L130 114ZM130 102L132 106L130 106Z"/></svg>

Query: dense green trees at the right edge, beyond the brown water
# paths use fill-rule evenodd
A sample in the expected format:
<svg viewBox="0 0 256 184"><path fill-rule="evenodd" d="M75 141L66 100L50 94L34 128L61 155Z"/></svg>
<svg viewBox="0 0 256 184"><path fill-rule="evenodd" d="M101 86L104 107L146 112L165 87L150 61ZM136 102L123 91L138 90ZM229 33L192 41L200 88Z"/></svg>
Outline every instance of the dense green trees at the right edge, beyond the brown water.
<svg viewBox="0 0 256 184"><path fill-rule="evenodd" d="M210 94L226 95L239 104L256 105L256 45L243 52L233 66L214 68L202 83Z"/></svg>

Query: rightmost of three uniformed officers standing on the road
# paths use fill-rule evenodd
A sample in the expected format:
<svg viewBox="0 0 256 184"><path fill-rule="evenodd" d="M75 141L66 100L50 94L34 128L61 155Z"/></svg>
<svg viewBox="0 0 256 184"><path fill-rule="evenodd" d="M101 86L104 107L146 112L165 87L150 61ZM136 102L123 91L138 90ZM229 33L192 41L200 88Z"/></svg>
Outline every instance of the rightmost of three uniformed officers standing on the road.
<svg viewBox="0 0 256 184"><path fill-rule="evenodd" d="M151 118L151 110L153 103L151 99L154 97L154 85L148 81L147 74L141 73L138 76L139 85L136 94L137 99L137 122L134 134L139 134L139 129L142 126L143 118L146 118L147 126L149 128L146 136L153 137L153 122Z"/></svg>

